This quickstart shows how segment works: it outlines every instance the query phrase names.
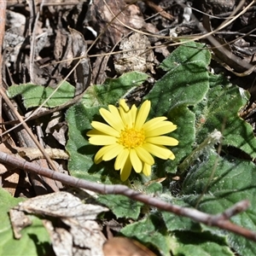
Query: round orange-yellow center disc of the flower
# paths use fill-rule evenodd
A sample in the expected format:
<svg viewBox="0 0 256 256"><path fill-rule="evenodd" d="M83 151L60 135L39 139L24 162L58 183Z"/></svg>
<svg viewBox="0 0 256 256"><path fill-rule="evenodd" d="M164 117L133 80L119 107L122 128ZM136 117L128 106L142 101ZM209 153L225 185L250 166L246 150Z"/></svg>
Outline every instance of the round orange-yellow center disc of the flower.
<svg viewBox="0 0 256 256"><path fill-rule="evenodd" d="M125 128L125 130L120 133L119 143L125 148L137 148L143 144L144 139L145 135L143 130Z"/></svg>

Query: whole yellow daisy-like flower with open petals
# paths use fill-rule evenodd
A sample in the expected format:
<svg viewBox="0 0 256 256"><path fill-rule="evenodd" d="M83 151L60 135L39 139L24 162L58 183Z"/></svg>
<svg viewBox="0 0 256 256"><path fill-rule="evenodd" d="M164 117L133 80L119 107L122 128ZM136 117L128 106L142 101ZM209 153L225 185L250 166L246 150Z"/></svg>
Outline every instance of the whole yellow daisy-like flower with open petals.
<svg viewBox="0 0 256 256"><path fill-rule="evenodd" d="M135 105L131 109L124 99L119 101L119 108L108 105L108 109L101 108L100 113L108 125L92 121L94 128L87 133L89 142L103 146L95 155L95 163L108 161L116 157L114 169L120 170L121 180L125 181L133 167L135 172L142 172L149 176L154 158L151 154L167 160L174 160L175 156L166 146L176 146L175 138L161 136L177 129L177 125L167 121L166 117L157 117L147 122L151 103L143 102L138 110Z"/></svg>

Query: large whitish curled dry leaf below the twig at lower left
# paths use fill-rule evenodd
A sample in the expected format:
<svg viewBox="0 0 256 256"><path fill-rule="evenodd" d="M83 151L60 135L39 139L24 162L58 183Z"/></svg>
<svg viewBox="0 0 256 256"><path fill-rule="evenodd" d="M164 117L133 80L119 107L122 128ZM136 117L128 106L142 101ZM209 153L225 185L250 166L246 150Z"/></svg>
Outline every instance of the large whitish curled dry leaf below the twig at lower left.
<svg viewBox="0 0 256 256"><path fill-rule="evenodd" d="M107 212L108 208L84 204L70 193L58 192L21 202L15 210L45 218L44 226L57 256L103 256L102 245L106 238L94 219L100 212ZM57 218L58 221L54 219L51 222L47 217ZM13 226L18 227L15 231L18 236L24 222L27 223L27 220L12 219Z"/></svg>

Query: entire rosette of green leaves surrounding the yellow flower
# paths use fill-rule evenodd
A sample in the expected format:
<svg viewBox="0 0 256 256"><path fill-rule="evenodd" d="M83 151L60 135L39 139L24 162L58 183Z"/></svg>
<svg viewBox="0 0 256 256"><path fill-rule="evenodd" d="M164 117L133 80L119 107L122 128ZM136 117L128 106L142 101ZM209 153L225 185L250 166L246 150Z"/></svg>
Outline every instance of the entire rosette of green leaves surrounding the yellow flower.
<svg viewBox="0 0 256 256"><path fill-rule="evenodd" d="M177 147L172 148L176 159L155 159L151 177L133 172L125 184L182 207L197 207L202 212L216 214L243 199L252 204L256 201L256 167L250 160L239 159L241 153L246 153L251 159L256 157L256 139L251 125L238 115L247 103L248 93L230 84L222 75L210 73L211 55L203 48L203 44L189 43L175 49L160 64L166 74L143 99L152 104L149 118L166 116L177 125L177 130L171 135L179 141ZM120 97L147 78L144 73L126 73L118 79L107 79L102 85L90 86L82 101L67 110L68 170L73 176L98 183L121 183L119 172L113 170L113 160L94 164L93 158L99 147L88 143L86 132L91 129L92 120L102 121L99 108L116 104ZM26 108L30 108L44 102L51 91L23 84L20 89L12 86L9 95L21 94ZM64 83L59 94L45 106L58 106L71 99L73 94L73 87ZM218 145L203 144L215 130L221 131L224 137L221 156L217 154ZM188 161L185 165L184 160ZM173 181L174 176L180 176L180 180ZM162 177L166 180L157 183ZM146 183L149 181L152 182L150 185ZM196 224L189 218L142 207L142 204L120 195L101 195L98 201L107 205L117 218L138 219L125 226L121 233L150 244L161 255L170 252L185 256L256 254L252 241ZM255 230L255 216L256 208L250 207L231 220Z"/></svg>

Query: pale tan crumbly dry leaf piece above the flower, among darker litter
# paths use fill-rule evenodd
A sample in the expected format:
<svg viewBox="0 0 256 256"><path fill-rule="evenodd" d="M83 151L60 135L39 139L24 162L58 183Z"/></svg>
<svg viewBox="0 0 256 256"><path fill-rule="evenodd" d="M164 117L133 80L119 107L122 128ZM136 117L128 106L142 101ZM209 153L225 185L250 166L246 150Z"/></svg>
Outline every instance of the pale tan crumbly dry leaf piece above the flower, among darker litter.
<svg viewBox="0 0 256 256"><path fill-rule="evenodd" d="M114 61L115 71L119 74L131 71L146 72L148 69L154 72L154 53L150 47L148 38L138 32L134 32L129 38L124 38L119 48L128 50L119 59Z"/></svg>

